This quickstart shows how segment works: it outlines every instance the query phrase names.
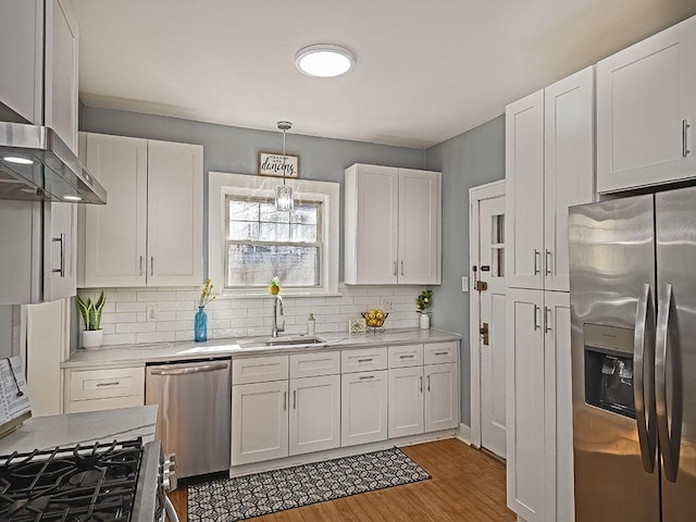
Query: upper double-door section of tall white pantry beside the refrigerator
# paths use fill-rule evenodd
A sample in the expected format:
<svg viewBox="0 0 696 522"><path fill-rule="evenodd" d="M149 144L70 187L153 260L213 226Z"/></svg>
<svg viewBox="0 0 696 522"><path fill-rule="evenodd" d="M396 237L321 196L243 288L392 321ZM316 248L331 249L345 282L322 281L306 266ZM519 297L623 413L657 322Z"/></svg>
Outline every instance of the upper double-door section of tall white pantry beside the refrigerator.
<svg viewBox="0 0 696 522"><path fill-rule="evenodd" d="M594 67L507 107L506 283L569 290L568 208L594 190Z"/></svg>

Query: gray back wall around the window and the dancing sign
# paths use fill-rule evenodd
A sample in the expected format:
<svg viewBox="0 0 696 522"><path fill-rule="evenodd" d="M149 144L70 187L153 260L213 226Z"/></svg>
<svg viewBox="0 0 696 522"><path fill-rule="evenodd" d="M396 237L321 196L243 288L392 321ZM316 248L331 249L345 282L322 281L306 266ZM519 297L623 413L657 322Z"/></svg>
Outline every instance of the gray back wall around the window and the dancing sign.
<svg viewBox="0 0 696 522"><path fill-rule="evenodd" d="M80 105L79 129L89 133L134 136L197 144L204 147L203 173L206 187L208 172L257 174L258 152L283 151L279 130L253 130L212 123L194 122L177 117L157 116L135 112L94 109ZM281 117L278 117L281 120ZM340 266L343 281L343 181L344 171L353 163L424 169L425 151L405 147L348 141L341 139L301 136L290 130L286 149L300 157L300 177L340 183ZM208 215L208 191L204 191L204 215ZM208 265L208 228L203 235L206 266Z"/></svg>

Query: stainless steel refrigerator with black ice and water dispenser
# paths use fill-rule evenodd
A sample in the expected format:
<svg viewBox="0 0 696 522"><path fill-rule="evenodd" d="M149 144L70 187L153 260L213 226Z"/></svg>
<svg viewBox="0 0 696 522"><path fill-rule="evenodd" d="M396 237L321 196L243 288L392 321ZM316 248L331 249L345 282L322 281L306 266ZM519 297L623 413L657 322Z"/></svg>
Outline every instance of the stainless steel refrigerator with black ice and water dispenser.
<svg viewBox="0 0 696 522"><path fill-rule="evenodd" d="M693 522L696 187L574 207L569 238L575 521Z"/></svg>

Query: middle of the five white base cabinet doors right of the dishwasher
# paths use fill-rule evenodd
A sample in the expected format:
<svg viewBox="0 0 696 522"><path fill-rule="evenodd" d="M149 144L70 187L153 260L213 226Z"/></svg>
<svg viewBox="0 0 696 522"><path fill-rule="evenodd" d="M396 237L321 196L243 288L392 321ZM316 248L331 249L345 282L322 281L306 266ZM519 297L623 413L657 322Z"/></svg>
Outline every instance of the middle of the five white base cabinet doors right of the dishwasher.
<svg viewBox="0 0 696 522"><path fill-rule="evenodd" d="M387 372L340 376L340 445L387 438Z"/></svg>

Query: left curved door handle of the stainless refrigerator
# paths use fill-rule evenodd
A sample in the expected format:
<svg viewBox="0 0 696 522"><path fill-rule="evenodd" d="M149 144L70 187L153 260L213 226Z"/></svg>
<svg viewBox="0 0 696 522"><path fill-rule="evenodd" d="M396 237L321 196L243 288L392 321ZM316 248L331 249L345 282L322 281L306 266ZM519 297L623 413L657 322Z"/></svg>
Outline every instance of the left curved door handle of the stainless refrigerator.
<svg viewBox="0 0 696 522"><path fill-rule="evenodd" d="M647 376L647 383L645 377ZM655 471L655 309L650 285L644 284L635 310L633 335L633 401L643 469ZM646 389L647 388L647 389ZM647 393L646 393L647 391ZM647 400L646 400L647 398Z"/></svg>

